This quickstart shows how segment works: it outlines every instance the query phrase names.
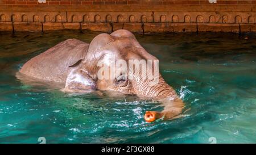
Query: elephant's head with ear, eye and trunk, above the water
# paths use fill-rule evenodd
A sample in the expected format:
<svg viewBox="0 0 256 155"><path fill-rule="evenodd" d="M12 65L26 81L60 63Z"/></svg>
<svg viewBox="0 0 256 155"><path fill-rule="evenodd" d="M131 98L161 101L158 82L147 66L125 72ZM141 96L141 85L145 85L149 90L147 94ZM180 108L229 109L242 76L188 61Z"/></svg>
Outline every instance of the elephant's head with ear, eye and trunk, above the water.
<svg viewBox="0 0 256 155"><path fill-rule="evenodd" d="M94 37L86 56L70 68L66 90L112 90L168 102L178 100L175 90L159 73L158 59L126 30ZM177 113L180 109L172 117ZM163 115L167 113L148 111L145 119L151 122Z"/></svg>

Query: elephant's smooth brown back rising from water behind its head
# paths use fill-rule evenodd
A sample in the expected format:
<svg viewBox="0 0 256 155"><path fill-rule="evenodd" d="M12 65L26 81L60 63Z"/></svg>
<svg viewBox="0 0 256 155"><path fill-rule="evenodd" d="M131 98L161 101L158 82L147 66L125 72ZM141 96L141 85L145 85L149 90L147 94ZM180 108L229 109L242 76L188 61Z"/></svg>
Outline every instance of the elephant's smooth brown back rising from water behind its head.
<svg viewBox="0 0 256 155"><path fill-rule="evenodd" d="M47 81L65 82L68 67L79 61L89 44L77 39L65 40L27 61L20 73Z"/></svg>

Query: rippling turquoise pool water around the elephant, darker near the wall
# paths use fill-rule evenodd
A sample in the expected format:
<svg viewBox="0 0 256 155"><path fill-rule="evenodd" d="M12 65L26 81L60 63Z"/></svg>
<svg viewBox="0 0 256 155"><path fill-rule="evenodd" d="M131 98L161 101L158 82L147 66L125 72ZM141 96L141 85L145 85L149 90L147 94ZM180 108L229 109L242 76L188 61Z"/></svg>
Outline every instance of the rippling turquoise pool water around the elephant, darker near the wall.
<svg viewBox="0 0 256 155"><path fill-rule="evenodd" d="M60 41L89 43L97 34L1 33L0 143L39 143L39 137L46 143L210 143L210 137L217 143L256 143L255 35L137 35L159 58L160 72L188 109L166 122L143 120L146 110L163 109L157 102L106 92L64 94L15 78L24 62Z"/></svg>

